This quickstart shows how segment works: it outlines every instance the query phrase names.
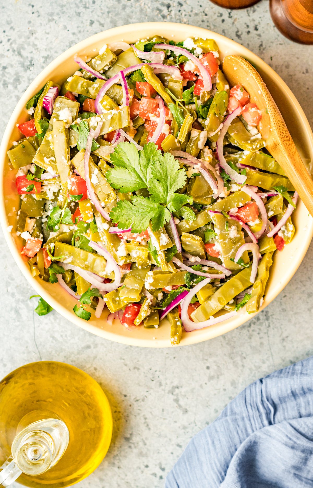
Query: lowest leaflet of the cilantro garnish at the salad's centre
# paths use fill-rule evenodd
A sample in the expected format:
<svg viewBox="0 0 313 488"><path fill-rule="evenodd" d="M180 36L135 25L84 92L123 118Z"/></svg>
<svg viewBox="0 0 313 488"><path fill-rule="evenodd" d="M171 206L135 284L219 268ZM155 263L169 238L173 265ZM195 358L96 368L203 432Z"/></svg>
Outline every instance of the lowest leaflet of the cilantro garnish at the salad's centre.
<svg viewBox="0 0 313 488"><path fill-rule="evenodd" d="M133 232L146 230L151 220L152 230L155 232L169 222L171 214L169 210L154 202L150 198L139 196L132 197L131 202L122 200L111 210L112 222L118 224L121 229L132 227Z"/></svg>

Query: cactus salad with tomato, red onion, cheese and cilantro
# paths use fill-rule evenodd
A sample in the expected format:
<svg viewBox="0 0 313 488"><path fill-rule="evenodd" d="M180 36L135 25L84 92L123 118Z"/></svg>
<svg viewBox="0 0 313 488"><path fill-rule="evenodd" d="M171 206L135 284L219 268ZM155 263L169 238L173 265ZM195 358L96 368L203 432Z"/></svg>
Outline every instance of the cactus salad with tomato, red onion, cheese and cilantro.
<svg viewBox="0 0 313 488"><path fill-rule="evenodd" d="M167 317L172 344L256 312L297 194L215 41L155 36L75 61L27 103L8 151L33 276L62 286L84 320L106 307L130 329Z"/></svg>

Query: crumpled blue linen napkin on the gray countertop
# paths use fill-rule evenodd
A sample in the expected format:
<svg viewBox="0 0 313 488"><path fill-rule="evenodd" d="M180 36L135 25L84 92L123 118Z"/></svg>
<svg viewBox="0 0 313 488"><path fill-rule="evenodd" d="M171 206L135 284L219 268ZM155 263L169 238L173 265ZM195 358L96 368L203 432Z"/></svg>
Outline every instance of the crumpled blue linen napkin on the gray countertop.
<svg viewBox="0 0 313 488"><path fill-rule="evenodd" d="M215 487L313 487L313 357L247 386L165 480L165 488Z"/></svg>

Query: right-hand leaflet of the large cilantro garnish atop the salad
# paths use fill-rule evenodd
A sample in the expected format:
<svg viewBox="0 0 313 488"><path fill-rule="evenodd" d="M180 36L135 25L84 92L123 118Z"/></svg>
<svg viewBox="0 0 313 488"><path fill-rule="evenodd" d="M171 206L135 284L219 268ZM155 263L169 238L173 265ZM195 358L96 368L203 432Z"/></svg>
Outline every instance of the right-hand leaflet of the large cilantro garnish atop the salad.
<svg viewBox="0 0 313 488"><path fill-rule="evenodd" d="M191 203L188 195L176 194L174 192L182 188L186 183L187 175L184 169L180 169L178 161L170 153L164 153L151 166L151 179L149 180L149 191L157 203L172 203L173 211L177 210L178 199L180 202ZM153 180L153 181L152 181ZM183 198L180 198L183 197ZM186 199L187 197L187 199ZM181 203L183 205L183 203Z"/></svg>

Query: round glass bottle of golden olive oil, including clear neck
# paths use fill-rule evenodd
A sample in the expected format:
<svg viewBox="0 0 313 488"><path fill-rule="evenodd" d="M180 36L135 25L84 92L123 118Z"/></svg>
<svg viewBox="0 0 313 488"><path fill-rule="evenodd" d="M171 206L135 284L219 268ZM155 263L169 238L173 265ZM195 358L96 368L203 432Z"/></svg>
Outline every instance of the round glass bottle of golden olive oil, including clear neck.
<svg viewBox="0 0 313 488"><path fill-rule="evenodd" d="M98 467L111 437L107 397L74 366L31 363L0 382L0 480L6 471L15 475L0 487L20 473L17 481L28 487L78 483Z"/></svg>

